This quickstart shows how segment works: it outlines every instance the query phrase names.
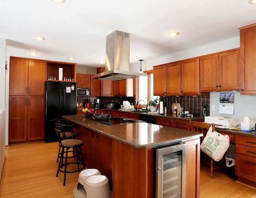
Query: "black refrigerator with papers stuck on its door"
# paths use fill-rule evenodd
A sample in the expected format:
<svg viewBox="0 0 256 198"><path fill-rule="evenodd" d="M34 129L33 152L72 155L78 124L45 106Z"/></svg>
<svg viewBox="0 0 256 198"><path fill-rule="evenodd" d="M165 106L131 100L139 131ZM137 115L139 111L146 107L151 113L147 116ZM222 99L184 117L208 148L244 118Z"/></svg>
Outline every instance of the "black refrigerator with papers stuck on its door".
<svg viewBox="0 0 256 198"><path fill-rule="evenodd" d="M46 81L45 96L44 141L56 142L54 122L64 120L63 115L76 115L76 83Z"/></svg>

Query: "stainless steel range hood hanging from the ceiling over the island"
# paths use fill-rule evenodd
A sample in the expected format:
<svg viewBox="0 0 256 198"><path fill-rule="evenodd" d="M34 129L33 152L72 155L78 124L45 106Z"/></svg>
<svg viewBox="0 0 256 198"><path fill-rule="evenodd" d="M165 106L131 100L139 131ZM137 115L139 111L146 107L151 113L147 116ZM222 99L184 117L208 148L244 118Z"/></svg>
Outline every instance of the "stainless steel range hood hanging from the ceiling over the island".
<svg viewBox="0 0 256 198"><path fill-rule="evenodd" d="M130 34L115 30L106 36L105 72L92 76L100 80L124 80L147 76L130 72Z"/></svg>

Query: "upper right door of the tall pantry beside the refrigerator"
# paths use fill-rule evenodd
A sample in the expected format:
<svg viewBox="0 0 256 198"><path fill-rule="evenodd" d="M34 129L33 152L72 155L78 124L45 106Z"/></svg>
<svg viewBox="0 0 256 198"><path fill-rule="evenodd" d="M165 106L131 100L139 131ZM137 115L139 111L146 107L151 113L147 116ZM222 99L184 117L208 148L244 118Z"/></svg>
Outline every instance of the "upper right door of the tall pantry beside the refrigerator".
<svg viewBox="0 0 256 198"><path fill-rule="evenodd" d="M29 60L28 68L28 94L44 96L46 79L46 62Z"/></svg>

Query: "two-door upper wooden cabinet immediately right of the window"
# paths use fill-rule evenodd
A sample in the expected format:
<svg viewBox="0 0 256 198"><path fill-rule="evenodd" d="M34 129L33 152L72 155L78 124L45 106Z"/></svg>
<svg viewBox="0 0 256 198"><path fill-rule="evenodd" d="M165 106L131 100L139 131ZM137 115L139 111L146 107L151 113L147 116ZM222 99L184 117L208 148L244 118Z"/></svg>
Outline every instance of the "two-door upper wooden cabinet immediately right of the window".
<svg viewBox="0 0 256 198"><path fill-rule="evenodd" d="M179 96L181 89L180 62L154 66L154 95Z"/></svg>

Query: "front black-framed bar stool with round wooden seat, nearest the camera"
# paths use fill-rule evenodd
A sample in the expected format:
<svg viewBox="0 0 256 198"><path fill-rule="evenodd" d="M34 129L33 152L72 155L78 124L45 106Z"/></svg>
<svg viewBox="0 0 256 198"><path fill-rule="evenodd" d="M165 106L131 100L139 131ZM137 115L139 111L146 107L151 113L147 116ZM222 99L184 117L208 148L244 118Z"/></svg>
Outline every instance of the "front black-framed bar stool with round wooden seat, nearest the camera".
<svg viewBox="0 0 256 198"><path fill-rule="evenodd" d="M59 147L61 148L60 152L60 161L58 165L58 173L64 173L64 182L63 186L66 185L66 173L80 172L85 169L84 158L82 155L81 146L84 144L82 140L77 139L62 139L60 134L64 135L64 132L72 131L72 125L57 126L54 130L57 133L59 140ZM73 149L70 151L70 149ZM69 167L67 170L67 166ZM75 168L76 167L76 168Z"/></svg>

